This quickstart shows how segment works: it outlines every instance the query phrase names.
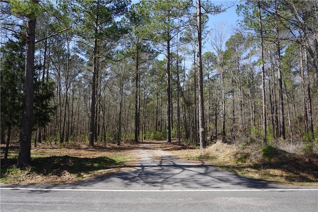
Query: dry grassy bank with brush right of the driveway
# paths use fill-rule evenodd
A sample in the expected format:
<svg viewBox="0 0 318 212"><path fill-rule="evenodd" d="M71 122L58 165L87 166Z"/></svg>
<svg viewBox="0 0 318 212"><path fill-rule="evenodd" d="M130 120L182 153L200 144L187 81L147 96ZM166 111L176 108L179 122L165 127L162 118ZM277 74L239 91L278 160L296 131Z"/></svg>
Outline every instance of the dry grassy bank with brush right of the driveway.
<svg viewBox="0 0 318 212"><path fill-rule="evenodd" d="M239 146L220 141L203 150L186 149L171 151L185 159L207 161L233 173L278 183L318 185L318 154L288 152L274 145L257 143ZM295 150L295 149L294 149Z"/></svg>

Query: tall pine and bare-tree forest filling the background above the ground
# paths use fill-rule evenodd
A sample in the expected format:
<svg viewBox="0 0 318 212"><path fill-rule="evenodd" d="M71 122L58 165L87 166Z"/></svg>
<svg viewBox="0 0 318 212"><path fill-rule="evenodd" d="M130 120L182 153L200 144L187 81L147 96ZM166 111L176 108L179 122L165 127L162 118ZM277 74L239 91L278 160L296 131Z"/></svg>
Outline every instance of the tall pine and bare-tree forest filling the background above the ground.
<svg viewBox="0 0 318 212"><path fill-rule="evenodd" d="M317 151L318 1L1 0L1 143ZM231 34L207 24L229 7Z"/></svg>

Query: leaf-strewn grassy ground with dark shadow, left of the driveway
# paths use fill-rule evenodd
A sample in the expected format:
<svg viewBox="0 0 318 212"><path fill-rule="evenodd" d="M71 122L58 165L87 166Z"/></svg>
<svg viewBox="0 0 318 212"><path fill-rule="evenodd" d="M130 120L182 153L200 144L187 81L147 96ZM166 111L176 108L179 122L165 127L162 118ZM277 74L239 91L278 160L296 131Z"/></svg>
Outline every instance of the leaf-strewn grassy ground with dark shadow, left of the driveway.
<svg viewBox="0 0 318 212"><path fill-rule="evenodd" d="M134 156L130 153L134 147L130 145L93 148L85 145L67 147L39 145L31 148L31 164L25 168L15 167L18 148L10 147L6 166L3 166L1 157L0 182L9 184L73 182L118 171L134 160Z"/></svg>

